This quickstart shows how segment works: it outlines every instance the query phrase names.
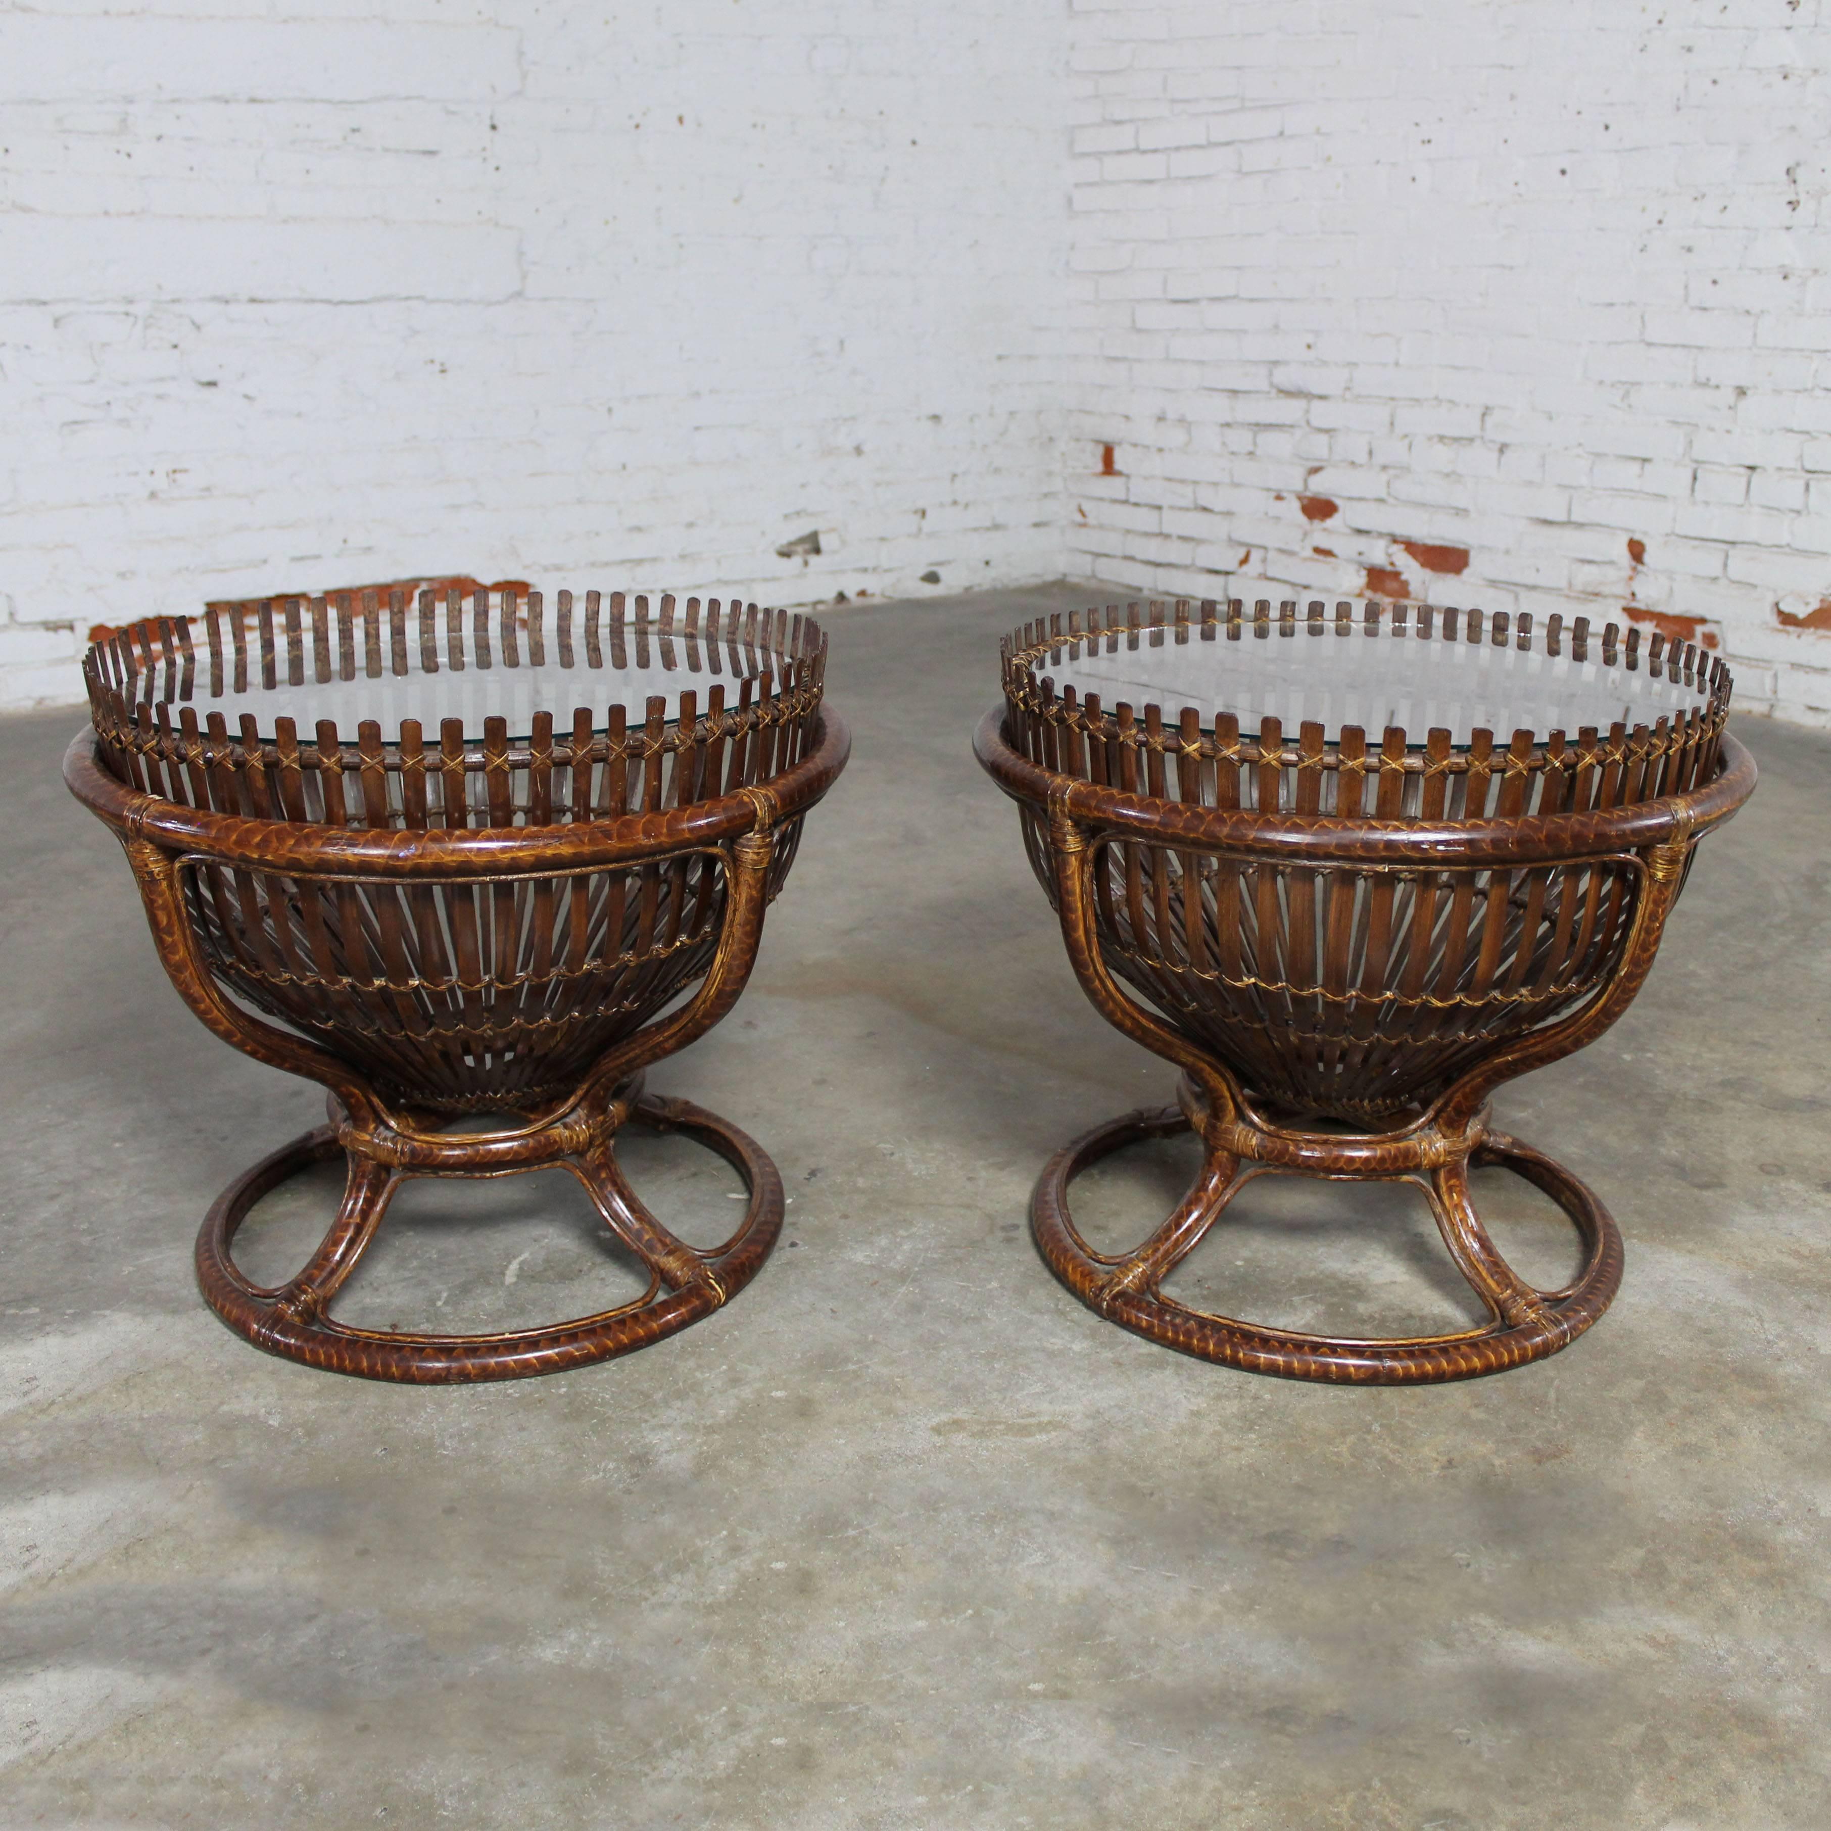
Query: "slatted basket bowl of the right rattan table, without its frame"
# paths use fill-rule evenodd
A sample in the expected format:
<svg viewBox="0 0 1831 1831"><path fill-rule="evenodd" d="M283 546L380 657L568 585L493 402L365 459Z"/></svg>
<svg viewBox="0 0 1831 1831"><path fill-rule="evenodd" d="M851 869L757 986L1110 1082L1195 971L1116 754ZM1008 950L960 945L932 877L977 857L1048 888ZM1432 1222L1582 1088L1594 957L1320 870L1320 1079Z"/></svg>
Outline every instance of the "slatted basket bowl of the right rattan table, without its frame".
<svg viewBox="0 0 1831 1831"><path fill-rule="evenodd" d="M1531 617L1322 608L1014 639L1005 729L1042 769L1170 804L1165 826L1232 817L1225 851L1097 842L1106 965L1269 1108L1390 1121L1595 996L1635 903L1633 864L1606 851L1434 872L1441 833L1685 793L1716 769L1730 677L1657 635L1642 655L1639 630L1591 643L1553 617L1534 645ZM1208 698L1146 701L1172 683ZM1053 899L1047 813L1020 806ZM1280 853L1296 824L1306 844Z"/></svg>

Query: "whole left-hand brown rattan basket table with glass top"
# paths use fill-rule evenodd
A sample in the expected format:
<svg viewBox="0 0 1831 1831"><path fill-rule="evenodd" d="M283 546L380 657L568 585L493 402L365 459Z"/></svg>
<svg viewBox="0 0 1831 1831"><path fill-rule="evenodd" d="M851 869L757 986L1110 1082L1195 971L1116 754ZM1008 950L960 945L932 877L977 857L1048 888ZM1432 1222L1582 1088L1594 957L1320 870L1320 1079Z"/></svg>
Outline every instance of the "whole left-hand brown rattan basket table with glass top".
<svg viewBox="0 0 1831 1831"><path fill-rule="evenodd" d="M782 1179L736 1126L643 1093L731 1011L807 809L846 764L817 624L754 604L560 591L330 593L211 606L90 650L64 776L121 839L190 1009L322 1082L330 1124L240 1176L198 1236L216 1313L260 1348L392 1381L546 1373L654 1342L758 1271ZM504 1130L452 1132L458 1115ZM749 1190L696 1251L617 1166L677 1128ZM287 1284L244 1216L344 1157L341 1212ZM498 1335L331 1315L405 1177L564 1165L648 1271L619 1309Z"/></svg>

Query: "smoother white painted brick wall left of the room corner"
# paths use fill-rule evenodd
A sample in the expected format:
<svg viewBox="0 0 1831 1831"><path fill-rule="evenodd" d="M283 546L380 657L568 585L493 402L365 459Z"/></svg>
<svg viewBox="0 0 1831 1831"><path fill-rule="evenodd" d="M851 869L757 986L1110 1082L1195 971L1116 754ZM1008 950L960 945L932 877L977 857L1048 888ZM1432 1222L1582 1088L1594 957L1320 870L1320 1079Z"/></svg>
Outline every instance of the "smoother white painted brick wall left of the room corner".
<svg viewBox="0 0 1831 1831"><path fill-rule="evenodd" d="M1053 0L0 5L0 705L249 591L1056 575L1064 81Z"/></svg>

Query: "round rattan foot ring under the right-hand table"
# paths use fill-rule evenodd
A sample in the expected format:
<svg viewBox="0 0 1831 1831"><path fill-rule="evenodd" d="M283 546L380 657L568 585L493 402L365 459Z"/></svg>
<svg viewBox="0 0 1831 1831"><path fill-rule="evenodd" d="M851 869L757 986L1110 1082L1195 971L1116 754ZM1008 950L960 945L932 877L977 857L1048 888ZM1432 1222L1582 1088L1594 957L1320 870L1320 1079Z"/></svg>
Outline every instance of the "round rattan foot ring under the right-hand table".
<svg viewBox="0 0 1831 1831"><path fill-rule="evenodd" d="M1498 1132L1489 1132L1465 1165L1446 1174L1461 1179L1468 1166L1501 1165L1544 1190L1573 1221L1584 1243L1578 1276L1558 1291L1534 1293L1531 1313L1516 1320L1500 1315L1479 1329L1456 1335L1362 1340L1271 1329L1234 1316L1214 1316L1163 1296L1157 1278L1139 1276L1137 1256L1111 1258L1089 1251L1075 1230L1067 1185L1102 1157L1141 1139L1172 1137L1190 1130L1181 1108L1126 1113L1082 1133L1044 1166L1031 1197L1031 1232L1049 1269L1089 1309L1165 1348L1282 1379L1327 1381L1357 1386L1412 1386L1452 1379L1476 1379L1544 1360L1584 1333L1613 1302L1620 1285L1622 1245L1608 1208L1595 1192L1542 1152ZM1243 1174L1241 1174L1243 1172ZM1210 1155L1185 1207L1192 1232L1207 1232L1219 1210L1252 1176L1276 1174L1267 1165L1238 1165ZM1208 1183L1203 1199L1197 1192ZM1403 1177L1425 1188L1432 1208L1439 1196L1423 1176ZM1479 1225L1479 1223L1478 1223ZM1174 1262L1172 1262L1174 1263ZM1161 1276L1161 1274L1159 1274Z"/></svg>

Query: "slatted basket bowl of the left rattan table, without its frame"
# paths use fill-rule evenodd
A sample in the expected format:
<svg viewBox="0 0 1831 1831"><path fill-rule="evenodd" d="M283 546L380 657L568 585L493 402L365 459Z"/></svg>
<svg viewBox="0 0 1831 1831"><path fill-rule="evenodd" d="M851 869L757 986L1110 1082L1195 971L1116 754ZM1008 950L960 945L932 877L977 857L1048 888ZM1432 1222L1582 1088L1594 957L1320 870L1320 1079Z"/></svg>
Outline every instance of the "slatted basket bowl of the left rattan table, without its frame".
<svg viewBox="0 0 1831 1831"><path fill-rule="evenodd" d="M698 601L650 619L646 599L630 619L623 593L597 591L575 613L562 591L547 630L538 593L496 615L487 593L450 597L425 593L412 621L401 593L211 606L205 654L183 626L126 630L84 666L101 760L174 809L315 840L330 828L403 859L417 833L467 835L465 857L485 835L569 837L632 815L690 826L807 753L813 623L754 604L701 619ZM780 824L771 897L800 826ZM705 976L725 916L716 846L595 870L568 859L487 890L469 875L300 877L201 846L181 875L225 991L438 1111L568 1095Z"/></svg>

